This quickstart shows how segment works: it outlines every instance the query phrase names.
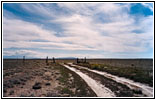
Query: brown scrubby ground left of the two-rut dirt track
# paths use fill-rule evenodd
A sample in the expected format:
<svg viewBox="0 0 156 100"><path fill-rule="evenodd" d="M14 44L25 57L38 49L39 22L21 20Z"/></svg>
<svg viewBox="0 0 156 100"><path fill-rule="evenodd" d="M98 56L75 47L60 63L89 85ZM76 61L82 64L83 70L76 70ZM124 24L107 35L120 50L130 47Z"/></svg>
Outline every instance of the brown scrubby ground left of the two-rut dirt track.
<svg viewBox="0 0 156 100"><path fill-rule="evenodd" d="M95 97L77 74L45 60L4 60L4 97Z"/></svg>

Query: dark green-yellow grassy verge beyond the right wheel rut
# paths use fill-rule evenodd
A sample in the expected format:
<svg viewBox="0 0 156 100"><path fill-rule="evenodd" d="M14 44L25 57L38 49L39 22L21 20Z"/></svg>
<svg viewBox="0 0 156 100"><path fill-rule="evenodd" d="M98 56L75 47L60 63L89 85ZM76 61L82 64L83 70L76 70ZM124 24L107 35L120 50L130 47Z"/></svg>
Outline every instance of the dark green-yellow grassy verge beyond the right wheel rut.
<svg viewBox="0 0 156 100"><path fill-rule="evenodd" d="M148 69L143 69L141 67L119 67L110 66L105 64L89 64L89 63L78 63L77 65L85 66L90 69L105 71L113 75L120 77L126 77L136 82L146 83L149 86L153 86L153 77L149 74Z"/></svg>

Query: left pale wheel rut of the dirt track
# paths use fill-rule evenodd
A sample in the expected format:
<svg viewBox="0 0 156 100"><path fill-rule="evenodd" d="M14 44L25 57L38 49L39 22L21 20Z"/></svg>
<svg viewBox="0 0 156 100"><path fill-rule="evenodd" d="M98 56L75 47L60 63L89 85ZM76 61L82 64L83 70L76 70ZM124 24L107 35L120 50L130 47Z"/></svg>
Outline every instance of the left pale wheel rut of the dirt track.
<svg viewBox="0 0 156 100"><path fill-rule="evenodd" d="M80 70L77 70L68 65L63 66L77 73L91 87L91 89L96 93L98 97L115 97L115 94L110 89L106 88L105 86L100 84L100 82L97 82L88 75L82 73Z"/></svg>

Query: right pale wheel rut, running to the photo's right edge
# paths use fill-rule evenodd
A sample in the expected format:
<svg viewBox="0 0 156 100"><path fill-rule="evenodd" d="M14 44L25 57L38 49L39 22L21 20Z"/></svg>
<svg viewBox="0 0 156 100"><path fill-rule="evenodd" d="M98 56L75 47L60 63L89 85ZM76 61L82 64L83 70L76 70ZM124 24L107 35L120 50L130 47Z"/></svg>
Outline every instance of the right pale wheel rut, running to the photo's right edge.
<svg viewBox="0 0 156 100"><path fill-rule="evenodd" d="M153 96L153 87L150 87L150 86L148 86L146 84L139 83L139 82L134 82L133 80L126 79L126 78L123 78L123 77L118 77L118 76L115 76L115 75L111 75L111 74L106 73L106 72L97 71L97 70L91 70L89 68L86 68L86 67L83 67L83 66L74 65L72 63L68 63L68 64L70 64L71 66L75 66L75 67L79 67L79 68L82 68L82 69L86 69L88 71L97 73L99 75L103 75L104 77L110 78L110 79L112 79L112 80L114 80L114 81L116 81L118 83L127 85L131 89L140 89L143 92L143 94L147 95L148 97L152 97Z"/></svg>

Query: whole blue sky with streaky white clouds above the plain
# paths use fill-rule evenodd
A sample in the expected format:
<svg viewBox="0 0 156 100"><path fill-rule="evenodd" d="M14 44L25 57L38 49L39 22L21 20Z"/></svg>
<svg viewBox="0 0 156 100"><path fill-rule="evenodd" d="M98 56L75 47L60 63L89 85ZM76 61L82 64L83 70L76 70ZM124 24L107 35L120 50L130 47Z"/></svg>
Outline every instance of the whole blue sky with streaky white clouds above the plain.
<svg viewBox="0 0 156 100"><path fill-rule="evenodd" d="M153 3L3 3L3 57L153 58Z"/></svg>

